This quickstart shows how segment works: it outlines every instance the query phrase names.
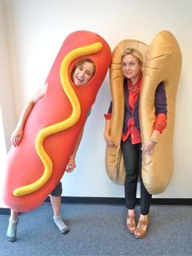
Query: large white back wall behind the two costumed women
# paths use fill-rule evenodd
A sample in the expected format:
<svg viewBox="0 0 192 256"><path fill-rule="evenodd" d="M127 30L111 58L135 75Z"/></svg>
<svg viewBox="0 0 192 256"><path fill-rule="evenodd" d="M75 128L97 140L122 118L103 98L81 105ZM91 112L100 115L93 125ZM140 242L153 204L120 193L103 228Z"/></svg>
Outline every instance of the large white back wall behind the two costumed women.
<svg viewBox="0 0 192 256"><path fill-rule="evenodd" d="M86 29L104 37L113 50L123 39L150 43L161 30L170 30L183 54L176 101L174 174L167 190L156 197L190 198L192 195L191 60L192 2L190 0L5 0L11 74L16 118L28 98L44 82L61 43L71 32ZM105 5L104 5L105 3ZM63 195L123 197L123 186L105 173L103 115L110 101L109 77L100 89L87 120L74 173L63 178ZM7 113L9 109L7 108ZM10 130L13 129L8 123ZM93 136L94 135L94 136ZM7 135L9 136L9 135ZM140 193L138 192L138 195Z"/></svg>

